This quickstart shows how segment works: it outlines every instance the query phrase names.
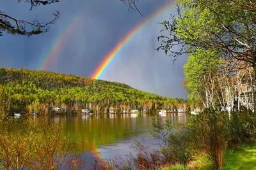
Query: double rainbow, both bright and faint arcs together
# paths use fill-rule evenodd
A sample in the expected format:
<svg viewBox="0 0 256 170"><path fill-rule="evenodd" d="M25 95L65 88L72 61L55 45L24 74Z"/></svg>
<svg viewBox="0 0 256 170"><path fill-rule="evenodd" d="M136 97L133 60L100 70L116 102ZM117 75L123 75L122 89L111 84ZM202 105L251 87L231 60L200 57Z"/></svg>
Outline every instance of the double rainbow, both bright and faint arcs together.
<svg viewBox="0 0 256 170"><path fill-rule="evenodd" d="M145 18L143 20L143 22L141 22L140 24L136 25L136 27L134 27L134 29L132 29L128 34L126 34L125 37L122 38L121 41L119 41L116 44L116 46L113 48L113 50L111 50L111 52L109 52L108 55L106 55L106 57L104 57L102 62L100 62L100 65L97 67L97 69L95 69L95 71L93 72L91 78L98 79L100 77L100 75L104 72L106 67L109 65L111 60L113 60L113 58L118 54L118 52L120 52L120 50L127 44L127 42L130 39L132 39L132 37L138 31L140 31L140 29L145 27L154 18L158 17L159 15L164 13L165 11L169 10L170 8L172 8L173 0L168 0L168 1L169 1L168 3L164 4L164 6L162 6L158 10L154 11L154 13L152 13L149 17ZM61 52L61 49L63 48L63 45L65 45L65 43L68 41L68 38L71 36L71 34L76 29L77 25L79 25L79 21L81 20L83 15L84 15L84 12L80 12L78 15L76 15L76 17L74 17L68 23L67 27L65 27L63 32L61 32L57 36L57 38L55 39L55 41L54 41L53 45L51 46L49 52L47 52L47 55L45 55L43 57L43 60L40 63L39 69L42 69L44 71L49 69L49 66L51 65L51 61L54 58L58 57L58 54Z"/></svg>

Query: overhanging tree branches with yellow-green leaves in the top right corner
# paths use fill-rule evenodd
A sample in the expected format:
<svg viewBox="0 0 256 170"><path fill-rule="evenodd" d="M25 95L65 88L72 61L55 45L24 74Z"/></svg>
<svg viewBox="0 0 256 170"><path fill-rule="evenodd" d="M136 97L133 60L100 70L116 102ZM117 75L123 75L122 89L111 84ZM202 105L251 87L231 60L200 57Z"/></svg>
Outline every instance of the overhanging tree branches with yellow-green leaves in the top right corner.
<svg viewBox="0 0 256 170"><path fill-rule="evenodd" d="M177 0L178 17L161 22L161 45L169 55L178 57L200 47L214 49L223 59L249 62L256 68L256 1L255 0ZM180 50L173 50L180 46Z"/></svg>

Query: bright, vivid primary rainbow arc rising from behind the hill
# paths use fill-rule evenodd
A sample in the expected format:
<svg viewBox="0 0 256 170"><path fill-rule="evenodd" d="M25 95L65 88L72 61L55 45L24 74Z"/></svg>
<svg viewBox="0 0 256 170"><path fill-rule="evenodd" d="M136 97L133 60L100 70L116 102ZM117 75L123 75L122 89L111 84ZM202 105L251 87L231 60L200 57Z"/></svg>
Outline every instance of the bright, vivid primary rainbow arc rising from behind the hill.
<svg viewBox="0 0 256 170"><path fill-rule="evenodd" d="M113 50L111 50L111 52L108 53L108 55L100 63L99 67L97 67L97 69L95 69L95 71L93 72L91 78L92 79L98 79L100 77L100 75L104 72L106 67L109 65L111 60L113 60L113 58L117 55L117 53L120 52L120 50L127 44L127 42L130 41L132 39L132 37L138 31L140 31L140 29L145 27L145 25L147 25L152 19L154 19L154 18L158 17L159 15L161 15L161 13L164 13L168 9L172 8L172 6L173 6L173 1L165 4L163 7L159 8L154 13L152 13L143 22L141 22L140 24L136 25L136 27L134 27L134 29L132 29L128 34L126 34L126 36L121 41L119 41L117 43L115 48L113 48Z"/></svg>

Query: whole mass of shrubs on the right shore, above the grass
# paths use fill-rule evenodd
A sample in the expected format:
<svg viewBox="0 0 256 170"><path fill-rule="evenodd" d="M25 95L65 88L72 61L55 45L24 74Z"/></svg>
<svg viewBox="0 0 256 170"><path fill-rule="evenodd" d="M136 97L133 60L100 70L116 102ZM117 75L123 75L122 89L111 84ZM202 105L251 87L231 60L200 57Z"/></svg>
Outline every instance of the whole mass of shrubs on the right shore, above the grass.
<svg viewBox="0 0 256 170"><path fill-rule="evenodd" d="M228 146L240 148L241 143L255 143L255 113L232 111L231 113L205 108L198 115L191 115L189 124L154 119L152 137L159 141L159 148L151 150L145 142L136 141L133 146L138 155L134 165L138 169L159 168L164 165L186 166L199 153L207 153L216 168L223 166Z"/></svg>

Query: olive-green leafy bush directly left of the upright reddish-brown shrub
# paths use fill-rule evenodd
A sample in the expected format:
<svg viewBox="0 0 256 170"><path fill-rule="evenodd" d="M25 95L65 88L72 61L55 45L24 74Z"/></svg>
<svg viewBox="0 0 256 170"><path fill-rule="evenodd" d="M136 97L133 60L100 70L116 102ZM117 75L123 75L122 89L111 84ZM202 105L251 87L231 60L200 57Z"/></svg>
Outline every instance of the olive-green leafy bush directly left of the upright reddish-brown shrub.
<svg viewBox="0 0 256 170"><path fill-rule="evenodd" d="M161 153L169 164L187 164L197 154L196 141L193 141L193 133L186 128L186 124L173 125L168 120L166 124L161 125L161 122L155 119L153 125L155 130L152 137L159 141Z"/></svg>

